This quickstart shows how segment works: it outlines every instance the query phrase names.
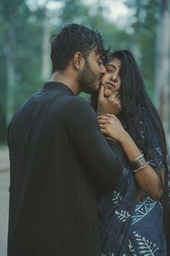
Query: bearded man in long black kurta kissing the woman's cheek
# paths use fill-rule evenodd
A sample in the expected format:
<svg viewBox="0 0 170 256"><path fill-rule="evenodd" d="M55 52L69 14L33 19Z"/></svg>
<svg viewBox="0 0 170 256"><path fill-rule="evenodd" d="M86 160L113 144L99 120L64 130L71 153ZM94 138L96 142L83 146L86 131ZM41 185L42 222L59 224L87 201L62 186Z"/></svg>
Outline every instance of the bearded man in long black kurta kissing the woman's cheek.
<svg viewBox="0 0 170 256"><path fill-rule="evenodd" d="M99 33L63 27L52 41L50 82L9 125L8 256L100 255L97 192L116 187L120 151L104 139L89 103L75 95L99 91L103 55Z"/></svg>

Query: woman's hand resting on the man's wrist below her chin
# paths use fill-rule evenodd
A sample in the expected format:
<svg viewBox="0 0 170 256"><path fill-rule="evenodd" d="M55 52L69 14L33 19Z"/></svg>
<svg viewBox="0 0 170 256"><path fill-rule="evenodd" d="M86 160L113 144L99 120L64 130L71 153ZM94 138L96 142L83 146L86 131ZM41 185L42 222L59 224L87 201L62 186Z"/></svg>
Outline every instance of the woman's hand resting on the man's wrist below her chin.
<svg viewBox="0 0 170 256"><path fill-rule="evenodd" d="M117 142L122 140L122 137L127 135L127 132L122 127L119 119L114 114L105 114L98 116L99 126L101 127L102 133L106 137L110 137Z"/></svg>

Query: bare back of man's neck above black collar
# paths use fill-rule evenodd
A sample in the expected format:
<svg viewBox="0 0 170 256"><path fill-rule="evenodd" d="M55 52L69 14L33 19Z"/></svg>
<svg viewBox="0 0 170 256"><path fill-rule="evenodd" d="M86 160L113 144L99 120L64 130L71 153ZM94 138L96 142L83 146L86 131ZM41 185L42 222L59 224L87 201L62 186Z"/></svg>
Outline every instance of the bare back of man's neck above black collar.
<svg viewBox="0 0 170 256"><path fill-rule="evenodd" d="M73 76L69 75L68 72L54 72L50 78L50 82L62 82L73 91L74 95L78 95L80 93L78 82Z"/></svg>

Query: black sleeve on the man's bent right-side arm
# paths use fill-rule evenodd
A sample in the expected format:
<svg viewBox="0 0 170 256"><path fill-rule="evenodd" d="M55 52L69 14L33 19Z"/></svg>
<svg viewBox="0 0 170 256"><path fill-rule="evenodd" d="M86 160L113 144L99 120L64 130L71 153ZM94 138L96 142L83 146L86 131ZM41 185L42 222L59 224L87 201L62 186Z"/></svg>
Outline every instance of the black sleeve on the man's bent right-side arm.
<svg viewBox="0 0 170 256"><path fill-rule="evenodd" d="M75 104L69 116L69 132L81 162L97 185L115 189L122 174L122 152L117 142L105 140L89 103Z"/></svg>

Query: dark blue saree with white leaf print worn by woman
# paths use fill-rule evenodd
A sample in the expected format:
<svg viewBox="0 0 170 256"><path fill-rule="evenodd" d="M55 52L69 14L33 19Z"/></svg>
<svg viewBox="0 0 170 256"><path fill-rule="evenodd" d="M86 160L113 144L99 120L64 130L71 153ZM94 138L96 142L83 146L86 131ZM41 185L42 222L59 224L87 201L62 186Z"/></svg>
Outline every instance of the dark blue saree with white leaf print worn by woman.
<svg viewBox="0 0 170 256"><path fill-rule="evenodd" d="M148 116L146 122L151 131L146 161L153 169L164 170L158 137ZM145 142L142 126L140 122L141 142ZM168 256L161 202L148 196L138 202L138 185L127 158L123 164L117 190L106 192L98 201L102 256Z"/></svg>

